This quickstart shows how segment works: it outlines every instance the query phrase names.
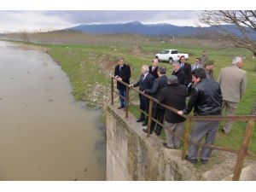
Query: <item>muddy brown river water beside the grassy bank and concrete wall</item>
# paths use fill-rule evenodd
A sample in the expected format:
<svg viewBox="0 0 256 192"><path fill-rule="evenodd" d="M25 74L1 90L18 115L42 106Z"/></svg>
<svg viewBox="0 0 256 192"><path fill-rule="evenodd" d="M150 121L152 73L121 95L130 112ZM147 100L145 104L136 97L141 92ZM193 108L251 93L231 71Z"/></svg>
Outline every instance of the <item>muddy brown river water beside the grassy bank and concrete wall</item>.
<svg viewBox="0 0 256 192"><path fill-rule="evenodd" d="M0 180L105 180L101 111L49 55L0 41Z"/></svg>

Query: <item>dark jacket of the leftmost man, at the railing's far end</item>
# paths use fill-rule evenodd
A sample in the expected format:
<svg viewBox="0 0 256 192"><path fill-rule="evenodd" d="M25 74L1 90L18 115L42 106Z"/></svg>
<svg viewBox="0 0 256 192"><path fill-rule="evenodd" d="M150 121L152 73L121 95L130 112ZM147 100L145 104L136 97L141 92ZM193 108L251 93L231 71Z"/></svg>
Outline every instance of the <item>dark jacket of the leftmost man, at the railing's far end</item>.
<svg viewBox="0 0 256 192"><path fill-rule="evenodd" d="M123 67L121 67L121 70L119 70L119 65L117 65L114 68L114 76L118 75L126 84L130 84L130 78L131 78L131 68L124 64ZM126 87L124 84L121 84L117 82L117 89L118 90L125 90Z"/></svg>

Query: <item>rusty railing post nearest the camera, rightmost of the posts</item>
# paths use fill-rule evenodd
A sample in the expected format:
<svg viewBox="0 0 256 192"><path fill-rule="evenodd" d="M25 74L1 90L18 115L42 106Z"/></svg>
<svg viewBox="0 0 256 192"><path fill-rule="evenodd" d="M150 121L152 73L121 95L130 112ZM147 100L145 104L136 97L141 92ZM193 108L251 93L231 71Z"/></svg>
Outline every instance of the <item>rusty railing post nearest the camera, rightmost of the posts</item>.
<svg viewBox="0 0 256 192"><path fill-rule="evenodd" d="M255 121L253 121L253 120L249 120L247 122L247 129L246 129L245 135L243 137L241 148L238 153L238 157L236 160L236 167L235 167L235 171L234 171L233 178L232 178L234 181L239 181L239 178L241 176L241 169L242 169L243 162L247 155L247 148L248 148L248 145L250 142L250 138L253 135L254 124L255 124Z"/></svg>

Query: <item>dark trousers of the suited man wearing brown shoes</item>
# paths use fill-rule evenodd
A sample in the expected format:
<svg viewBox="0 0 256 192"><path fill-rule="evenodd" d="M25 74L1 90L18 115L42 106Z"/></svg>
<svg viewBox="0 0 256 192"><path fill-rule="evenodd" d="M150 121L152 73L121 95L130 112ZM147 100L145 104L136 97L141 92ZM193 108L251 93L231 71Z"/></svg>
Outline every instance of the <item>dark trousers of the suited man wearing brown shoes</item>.
<svg viewBox="0 0 256 192"><path fill-rule="evenodd" d="M162 108L160 105L154 103L153 104L153 109L152 109L152 117L154 119L157 119L161 124L164 123L164 118L165 118L165 108ZM162 126L157 124L156 125L156 128L154 130L154 127L155 127L155 122L154 120L151 121L151 126L150 126L150 132L155 132L156 135L160 135L161 131L162 131Z"/></svg>

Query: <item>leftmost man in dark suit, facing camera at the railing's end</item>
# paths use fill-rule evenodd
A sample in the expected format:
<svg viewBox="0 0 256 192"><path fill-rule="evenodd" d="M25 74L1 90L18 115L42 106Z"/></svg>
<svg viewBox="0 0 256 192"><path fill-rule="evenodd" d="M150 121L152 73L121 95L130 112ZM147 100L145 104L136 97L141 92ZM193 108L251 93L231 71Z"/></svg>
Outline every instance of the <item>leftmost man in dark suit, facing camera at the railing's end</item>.
<svg viewBox="0 0 256 192"><path fill-rule="evenodd" d="M125 108L125 99L121 96L126 96L126 87L119 81L123 81L126 84L130 84L131 68L124 63L124 58L118 59L119 64L114 68L114 79L117 80L117 89L119 90L120 108Z"/></svg>

